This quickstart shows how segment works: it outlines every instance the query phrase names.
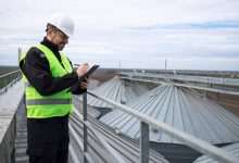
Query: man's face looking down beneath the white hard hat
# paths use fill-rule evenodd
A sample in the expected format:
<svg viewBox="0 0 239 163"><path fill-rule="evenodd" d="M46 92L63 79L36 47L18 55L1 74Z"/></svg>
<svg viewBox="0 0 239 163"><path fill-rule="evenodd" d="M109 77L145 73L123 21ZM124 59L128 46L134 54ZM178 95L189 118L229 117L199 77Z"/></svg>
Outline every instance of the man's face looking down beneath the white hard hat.
<svg viewBox="0 0 239 163"><path fill-rule="evenodd" d="M63 50L65 45L68 43L68 36L61 30L55 30L51 36L51 41L58 46L59 51Z"/></svg>

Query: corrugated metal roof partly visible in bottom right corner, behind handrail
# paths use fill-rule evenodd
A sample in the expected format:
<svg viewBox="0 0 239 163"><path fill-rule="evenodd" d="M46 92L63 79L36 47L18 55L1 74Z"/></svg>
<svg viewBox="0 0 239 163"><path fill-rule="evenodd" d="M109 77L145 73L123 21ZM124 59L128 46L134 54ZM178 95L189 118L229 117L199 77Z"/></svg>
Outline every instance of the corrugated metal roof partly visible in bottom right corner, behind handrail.
<svg viewBox="0 0 239 163"><path fill-rule="evenodd" d="M239 161L239 142L237 143L232 143L232 145L228 145L226 147L223 147L223 149L229 153L231 153L232 155L238 158ZM217 161L211 159L207 155L203 155L198 158L193 163L218 163Z"/></svg>

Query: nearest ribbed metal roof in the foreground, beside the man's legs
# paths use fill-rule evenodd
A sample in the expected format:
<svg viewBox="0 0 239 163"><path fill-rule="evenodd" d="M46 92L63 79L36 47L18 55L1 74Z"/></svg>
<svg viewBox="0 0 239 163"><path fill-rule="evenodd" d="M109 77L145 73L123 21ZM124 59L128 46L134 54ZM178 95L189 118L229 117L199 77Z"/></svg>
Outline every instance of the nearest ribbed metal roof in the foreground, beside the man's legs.
<svg viewBox="0 0 239 163"><path fill-rule="evenodd" d="M88 116L88 123L93 126L88 128L88 154L92 162L96 163L114 163L117 162L112 155L115 152L117 160L122 160L124 163L138 163L139 162L139 145L137 141L126 139L114 133L111 128L100 123L96 118ZM71 145L70 145L70 163L83 162L83 122L79 121L78 116L73 113L71 116L70 124L73 129L71 133ZM73 134L75 133L75 134ZM103 139L113 151L109 151L102 141ZM163 155L154 150L149 151L149 163L168 163Z"/></svg>

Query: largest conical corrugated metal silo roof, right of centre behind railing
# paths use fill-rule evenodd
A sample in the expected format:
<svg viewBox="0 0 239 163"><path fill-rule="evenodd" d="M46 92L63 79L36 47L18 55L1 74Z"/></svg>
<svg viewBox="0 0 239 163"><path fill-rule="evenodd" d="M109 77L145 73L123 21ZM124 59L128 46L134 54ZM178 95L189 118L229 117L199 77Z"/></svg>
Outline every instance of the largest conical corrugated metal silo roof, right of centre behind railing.
<svg viewBox="0 0 239 163"><path fill-rule="evenodd" d="M188 89L160 86L135 99L129 106L211 143L239 140L239 118ZM113 111L101 121L133 138L139 138L139 121L126 113ZM150 130L152 141L180 143L158 129Z"/></svg>

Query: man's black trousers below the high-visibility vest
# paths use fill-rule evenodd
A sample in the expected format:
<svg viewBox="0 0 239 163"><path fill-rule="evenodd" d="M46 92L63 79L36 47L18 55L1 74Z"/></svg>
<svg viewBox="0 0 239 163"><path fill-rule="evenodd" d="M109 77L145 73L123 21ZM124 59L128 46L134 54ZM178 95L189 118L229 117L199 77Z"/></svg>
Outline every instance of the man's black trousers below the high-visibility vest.
<svg viewBox="0 0 239 163"><path fill-rule="evenodd" d="M67 163L68 142L68 115L27 118L29 163Z"/></svg>

